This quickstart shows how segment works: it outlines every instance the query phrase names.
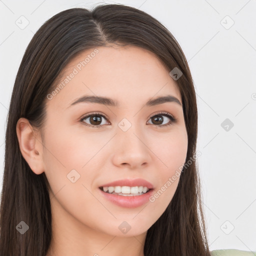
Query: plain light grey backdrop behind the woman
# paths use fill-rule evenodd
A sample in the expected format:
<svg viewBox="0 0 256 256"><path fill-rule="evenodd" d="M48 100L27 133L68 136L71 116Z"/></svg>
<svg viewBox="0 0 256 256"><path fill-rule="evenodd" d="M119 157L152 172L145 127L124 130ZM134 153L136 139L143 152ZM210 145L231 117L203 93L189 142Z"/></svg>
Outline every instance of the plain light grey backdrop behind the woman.
<svg viewBox="0 0 256 256"><path fill-rule="evenodd" d="M1 177L5 120L27 44L54 14L97 3L100 1L0 0ZM187 58L199 111L197 150L201 156L197 162L210 250L256 250L256 0L118 3L139 8L162 22ZM15 23L21 23L21 15L29 21L24 29ZM226 118L229 123L222 127Z"/></svg>

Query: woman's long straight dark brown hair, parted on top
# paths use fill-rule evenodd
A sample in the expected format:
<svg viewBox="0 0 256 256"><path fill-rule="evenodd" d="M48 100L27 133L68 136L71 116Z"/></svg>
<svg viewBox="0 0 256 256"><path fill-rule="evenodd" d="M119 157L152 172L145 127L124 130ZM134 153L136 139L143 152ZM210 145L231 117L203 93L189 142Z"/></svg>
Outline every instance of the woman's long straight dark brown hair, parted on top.
<svg viewBox="0 0 256 256"><path fill-rule="evenodd" d="M92 10L71 8L48 19L34 34L20 63L7 117L5 161L0 205L0 255L45 256L51 241L51 208L47 179L36 175L22 157L16 123L25 117L42 129L46 95L63 67L79 52L109 43L136 45L151 52L170 71L181 93L188 136L186 161L194 156L197 138L197 106L190 70L173 35L149 14L123 4L104 4ZM180 173L172 200L147 230L145 256L209 256L201 207L196 162ZM24 221L24 234L17 224Z"/></svg>

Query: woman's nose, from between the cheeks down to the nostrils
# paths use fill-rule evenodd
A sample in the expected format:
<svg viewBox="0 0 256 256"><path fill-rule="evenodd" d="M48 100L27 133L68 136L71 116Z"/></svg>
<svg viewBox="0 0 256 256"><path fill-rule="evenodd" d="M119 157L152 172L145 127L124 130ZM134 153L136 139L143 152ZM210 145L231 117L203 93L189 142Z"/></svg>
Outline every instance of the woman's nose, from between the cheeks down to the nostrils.
<svg viewBox="0 0 256 256"><path fill-rule="evenodd" d="M114 155L112 162L119 167L137 169L150 163L150 149L143 132L133 129L119 129L114 136Z"/></svg>

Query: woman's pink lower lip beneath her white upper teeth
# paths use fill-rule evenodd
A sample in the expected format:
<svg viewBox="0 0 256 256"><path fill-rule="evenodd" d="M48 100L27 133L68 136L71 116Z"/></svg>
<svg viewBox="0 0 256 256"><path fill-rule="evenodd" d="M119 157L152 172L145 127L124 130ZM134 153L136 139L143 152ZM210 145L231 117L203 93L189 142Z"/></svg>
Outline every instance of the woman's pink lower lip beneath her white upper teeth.
<svg viewBox="0 0 256 256"><path fill-rule="evenodd" d="M107 192L102 191L100 188L102 195L111 201L112 203L126 208L134 208L141 206L149 201L149 197L153 194L153 189L150 189L144 194L141 195L118 195L118 194L110 194Z"/></svg>

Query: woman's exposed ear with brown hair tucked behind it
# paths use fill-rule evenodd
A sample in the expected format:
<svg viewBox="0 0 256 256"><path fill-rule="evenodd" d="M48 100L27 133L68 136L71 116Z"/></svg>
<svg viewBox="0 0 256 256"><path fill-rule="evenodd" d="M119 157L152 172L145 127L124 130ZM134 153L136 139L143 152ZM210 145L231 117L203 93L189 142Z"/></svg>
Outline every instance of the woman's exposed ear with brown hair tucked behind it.
<svg viewBox="0 0 256 256"><path fill-rule="evenodd" d="M41 139L34 131L26 118L19 118L16 124L19 149L24 159L35 174L44 171L43 168L43 145Z"/></svg>

